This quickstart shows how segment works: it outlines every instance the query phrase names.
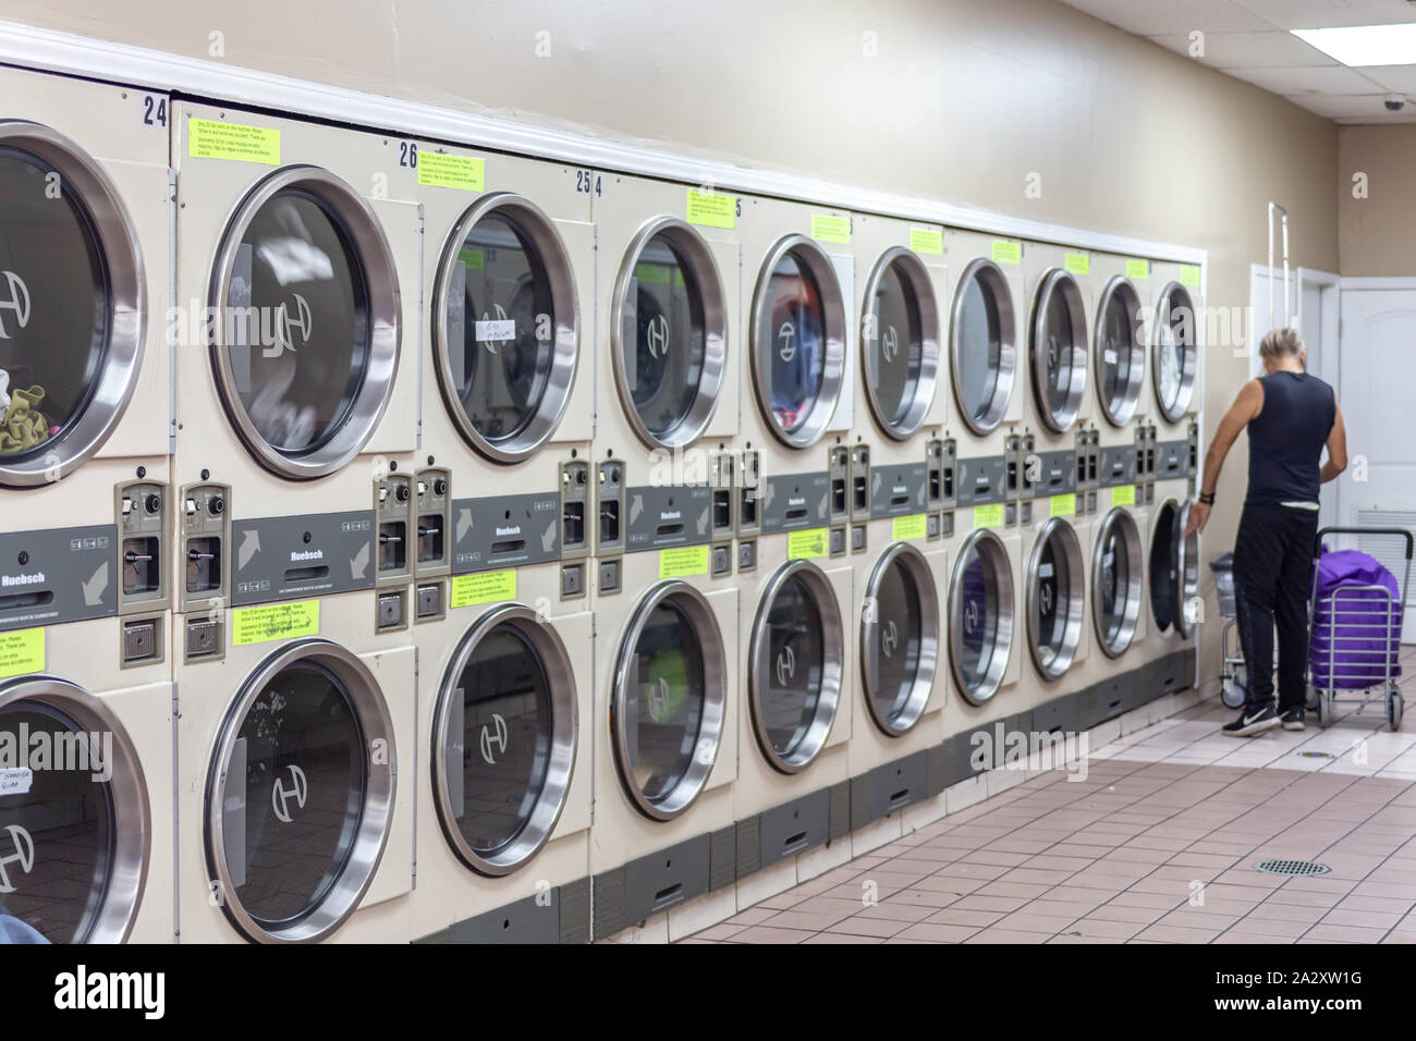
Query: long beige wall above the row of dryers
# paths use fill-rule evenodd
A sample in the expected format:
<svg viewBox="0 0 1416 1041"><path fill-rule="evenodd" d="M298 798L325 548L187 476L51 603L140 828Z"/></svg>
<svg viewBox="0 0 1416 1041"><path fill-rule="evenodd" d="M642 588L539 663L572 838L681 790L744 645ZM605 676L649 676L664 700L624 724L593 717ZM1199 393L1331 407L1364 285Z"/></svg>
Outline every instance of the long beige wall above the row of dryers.
<svg viewBox="0 0 1416 1041"><path fill-rule="evenodd" d="M1334 123L1055 0L0 0L0 18L191 57L221 33L227 62L270 72L1202 246L1211 306L1247 305L1270 198L1294 263L1338 269ZM1214 344L1206 364L1208 435L1247 361ZM1232 544L1245 462L1206 558Z"/></svg>

